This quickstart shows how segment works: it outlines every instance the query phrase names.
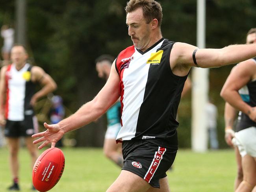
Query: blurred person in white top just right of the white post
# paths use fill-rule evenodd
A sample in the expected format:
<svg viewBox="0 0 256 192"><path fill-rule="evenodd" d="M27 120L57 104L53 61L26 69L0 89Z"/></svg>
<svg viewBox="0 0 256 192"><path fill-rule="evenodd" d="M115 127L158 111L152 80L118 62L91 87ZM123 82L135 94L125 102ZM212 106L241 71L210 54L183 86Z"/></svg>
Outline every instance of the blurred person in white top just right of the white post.
<svg viewBox="0 0 256 192"><path fill-rule="evenodd" d="M217 136L217 118L218 109L213 104L213 101L209 99L206 103L206 114L207 114L207 130L210 140L210 149L219 149L219 141Z"/></svg>

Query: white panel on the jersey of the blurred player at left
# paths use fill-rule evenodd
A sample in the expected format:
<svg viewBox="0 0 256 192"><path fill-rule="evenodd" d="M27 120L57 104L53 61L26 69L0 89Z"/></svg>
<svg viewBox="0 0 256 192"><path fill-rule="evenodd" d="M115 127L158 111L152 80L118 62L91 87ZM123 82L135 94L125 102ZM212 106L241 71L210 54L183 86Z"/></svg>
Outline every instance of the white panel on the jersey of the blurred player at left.
<svg viewBox="0 0 256 192"><path fill-rule="evenodd" d="M26 64L19 71L12 64L9 71L8 80L9 87L9 100L8 100L8 120L11 121L22 121L24 120L24 100L25 100L25 89L26 80L23 77L24 72L29 68L29 64Z"/></svg>

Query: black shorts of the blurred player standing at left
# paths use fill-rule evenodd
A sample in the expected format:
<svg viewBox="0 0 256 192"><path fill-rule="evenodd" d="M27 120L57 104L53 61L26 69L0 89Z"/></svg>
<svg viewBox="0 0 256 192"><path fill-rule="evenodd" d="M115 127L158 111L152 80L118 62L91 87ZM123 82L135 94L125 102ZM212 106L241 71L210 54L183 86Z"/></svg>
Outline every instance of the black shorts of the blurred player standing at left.
<svg viewBox="0 0 256 192"><path fill-rule="evenodd" d="M25 116L23 121L6 120L4 135L6 137L28 137L38 133L36 116Z"/></svg>

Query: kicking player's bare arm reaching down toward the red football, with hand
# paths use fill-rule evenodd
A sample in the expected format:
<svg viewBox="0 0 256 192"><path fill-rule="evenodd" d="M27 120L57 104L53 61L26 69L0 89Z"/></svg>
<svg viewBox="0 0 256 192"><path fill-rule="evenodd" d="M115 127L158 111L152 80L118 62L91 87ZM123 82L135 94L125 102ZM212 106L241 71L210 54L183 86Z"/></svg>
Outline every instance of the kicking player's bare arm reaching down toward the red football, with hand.
<svg viewBox="0 0 256 192"><path fill-rule="evenodd" d="M65 118L58 124L48 125L45 123L46 131L32 135L32 137L41 137L35 140L33 142L34 144L45 141L41 146L39 146L39 149L43 148L50 142L52 142L52 147L54 147L55 143L63 137L66 132L78 129L96 120L117 101L119 98L118 87L120 79L114 63L111 67L108 81L93 100L85 103L80 107L80 109L78 109L78 111L76 111L76 113Z"/></svg>

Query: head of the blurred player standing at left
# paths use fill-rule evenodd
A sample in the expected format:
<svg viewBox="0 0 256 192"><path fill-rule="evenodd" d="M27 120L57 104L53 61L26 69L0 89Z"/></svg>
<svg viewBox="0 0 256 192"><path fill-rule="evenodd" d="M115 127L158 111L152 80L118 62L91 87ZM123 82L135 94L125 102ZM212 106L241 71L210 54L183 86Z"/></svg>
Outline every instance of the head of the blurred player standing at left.
<svg viewBox="0 0 256 192"><path fill-rule="evenodd" d="M28 59L28 54L22 46L14 46L11 49L11 60L16 65L23 65Z"/></svg>

